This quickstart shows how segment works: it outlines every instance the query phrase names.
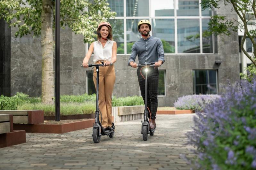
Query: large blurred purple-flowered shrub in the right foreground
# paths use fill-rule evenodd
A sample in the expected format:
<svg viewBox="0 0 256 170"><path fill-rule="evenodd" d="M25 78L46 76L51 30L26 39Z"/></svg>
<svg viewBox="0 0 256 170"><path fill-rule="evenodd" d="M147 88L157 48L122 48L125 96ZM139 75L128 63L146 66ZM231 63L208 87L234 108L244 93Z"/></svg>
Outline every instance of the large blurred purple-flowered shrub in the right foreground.
<svg viewBox="0 0 256 170"><path fill-rule="evenodd" d="M206 104L186 135L203 169L256 169L256 81L242 81Z"/></svg>

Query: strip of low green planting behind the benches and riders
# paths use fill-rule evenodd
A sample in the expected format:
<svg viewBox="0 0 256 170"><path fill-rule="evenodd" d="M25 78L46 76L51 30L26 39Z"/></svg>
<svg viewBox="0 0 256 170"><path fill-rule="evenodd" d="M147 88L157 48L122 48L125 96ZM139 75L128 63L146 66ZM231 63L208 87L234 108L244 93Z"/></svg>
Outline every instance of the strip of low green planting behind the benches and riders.
<svg viewBox="0 0 256 170"><path fill-rule="evenodd" d="M62 95L61 115L89 114L95 112L96 95ZM142 97L113 97L112 106L144 105ZM17 93L12 97L0 97L0 110L44 110L45 116L55 115L55 104L43 104L40 97Z"/></svg>

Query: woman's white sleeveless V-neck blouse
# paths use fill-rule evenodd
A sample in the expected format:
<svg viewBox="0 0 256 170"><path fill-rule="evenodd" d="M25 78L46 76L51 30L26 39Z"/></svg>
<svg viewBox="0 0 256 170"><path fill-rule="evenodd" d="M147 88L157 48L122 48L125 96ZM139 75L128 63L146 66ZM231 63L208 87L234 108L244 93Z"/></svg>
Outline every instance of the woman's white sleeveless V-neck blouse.
<svg viewBox="0 0 256 170"><path fill-rule="evenodd" d="M111 61L113 43L114 41L108 40L103 48L100 40L93 42L93 62L95 63L99 60Z"/></svg>

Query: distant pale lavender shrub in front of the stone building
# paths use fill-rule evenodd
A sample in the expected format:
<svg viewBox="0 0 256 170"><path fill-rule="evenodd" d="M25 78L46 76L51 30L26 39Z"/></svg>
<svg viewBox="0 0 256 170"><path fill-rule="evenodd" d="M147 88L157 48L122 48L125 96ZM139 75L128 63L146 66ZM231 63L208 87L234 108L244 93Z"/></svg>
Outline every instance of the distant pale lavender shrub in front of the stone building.
<svg viewBox="0 0 256 170"><path fill-rule="evenodd" d="M187 95L179 97L174 103L174 107L176 109L202 111L205 104L209 104L219 97L219 95Z"/></svg>

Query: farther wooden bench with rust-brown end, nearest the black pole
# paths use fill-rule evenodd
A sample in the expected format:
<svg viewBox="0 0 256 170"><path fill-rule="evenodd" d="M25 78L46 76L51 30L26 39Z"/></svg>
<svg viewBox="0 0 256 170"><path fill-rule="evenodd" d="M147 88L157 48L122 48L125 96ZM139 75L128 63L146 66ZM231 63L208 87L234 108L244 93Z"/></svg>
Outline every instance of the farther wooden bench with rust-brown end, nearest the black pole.
<svg viewBox="0 0 256 170"><path fill-rule="evenodd" d="M43 110L2 110L1 114L12 114L13 123L38 124L44 123Z"/></svg>

